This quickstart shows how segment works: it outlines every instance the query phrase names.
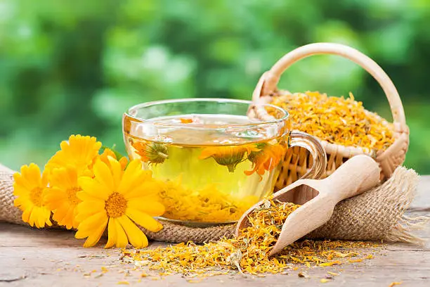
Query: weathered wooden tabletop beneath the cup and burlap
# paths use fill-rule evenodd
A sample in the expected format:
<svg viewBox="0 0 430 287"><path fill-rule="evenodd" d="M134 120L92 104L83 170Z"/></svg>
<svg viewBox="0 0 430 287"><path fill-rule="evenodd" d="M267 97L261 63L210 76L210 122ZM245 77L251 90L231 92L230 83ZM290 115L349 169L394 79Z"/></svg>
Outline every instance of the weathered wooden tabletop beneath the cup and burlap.
<svg viewBox="0 0 430 287"><path fill-rule="evenodd" d="M430 176L422 177L411 215L430 215ZM427 225L419 234L430 238ZM117 250L82 248L82 241L73 232L36 230L0 223L0 286L188 286L181 275L157 276L141 279L141 271L124 272ZM165 243L153 243L163 245ZM429 244L427 244L429 246ZM117 265L115 267L115 265ZM102 273L101 267L108 272ZM132 267L132 266L131 266ZM129 269L131 269L129 267ZM299 278L299 271L287 275L268 275L265 278L240 275L214 276L200 281L198 286L390 286L403 281L403 286L430 286L430 252L407 244L389 244L367 262L341 265L340 273L328 283L320 283L327 274L322 267L308 269L310 279ZM157 279L157 280L155 280Z"/></svg>

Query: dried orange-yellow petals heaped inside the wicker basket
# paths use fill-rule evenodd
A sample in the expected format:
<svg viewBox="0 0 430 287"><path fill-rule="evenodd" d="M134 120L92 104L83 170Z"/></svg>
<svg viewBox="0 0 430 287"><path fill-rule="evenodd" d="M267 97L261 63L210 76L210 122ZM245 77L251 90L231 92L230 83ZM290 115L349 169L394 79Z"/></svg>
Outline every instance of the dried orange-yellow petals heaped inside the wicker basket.
<svg viewBox="0 0 430 287"><path fill-rule="evenodd" d="M318 92L282 94L272 103L289 111L292 129L332 144L384 150L393 144L393 127L365 110L363 103Z"/></svg>

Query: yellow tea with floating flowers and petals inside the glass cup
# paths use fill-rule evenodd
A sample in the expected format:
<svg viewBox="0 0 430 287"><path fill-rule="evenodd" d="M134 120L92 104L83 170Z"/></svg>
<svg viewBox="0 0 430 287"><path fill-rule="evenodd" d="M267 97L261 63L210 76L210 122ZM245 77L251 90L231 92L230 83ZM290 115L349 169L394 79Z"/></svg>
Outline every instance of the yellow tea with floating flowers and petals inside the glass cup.
<svg viewBox="0 0 430 287"><path fill-rule="evenodd" d="M273 191L287 149L285 139L261 139L265 131L232 128L229 136L225 130L221 135L214 129L197 128L245 123L247 117L178 115L155 121L178 126L156 136L136 130L133 136L125 134L125 141L130 158L141 159L153 177L164 182L159 192L166 207L163 217L233 222Z"/></svg>

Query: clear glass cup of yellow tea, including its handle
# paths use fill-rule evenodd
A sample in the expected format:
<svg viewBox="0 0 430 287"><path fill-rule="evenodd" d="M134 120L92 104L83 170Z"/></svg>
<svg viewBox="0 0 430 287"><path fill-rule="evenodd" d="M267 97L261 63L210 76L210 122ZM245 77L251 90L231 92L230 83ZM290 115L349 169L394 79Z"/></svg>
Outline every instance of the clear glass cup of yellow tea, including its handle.
<svg viewBox="0 0 430 287"><path fill-rule="evenodd" d="M313 156L304 176L325 171L324 148L290 130L287 111L270 104L221 98L141 103L123 117L126 151L160 182L159 219L207 226L236 222L273 193L287 148Z"/></svg>

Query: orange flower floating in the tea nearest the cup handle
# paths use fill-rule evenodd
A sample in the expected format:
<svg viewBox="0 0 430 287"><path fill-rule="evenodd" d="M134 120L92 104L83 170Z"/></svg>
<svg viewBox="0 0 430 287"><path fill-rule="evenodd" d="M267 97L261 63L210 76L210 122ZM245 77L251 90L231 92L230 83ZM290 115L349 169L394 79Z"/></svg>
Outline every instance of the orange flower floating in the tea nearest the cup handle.
<svg viewBox="0 0 430 287"><path fill-rule="evenodd" d="M254 172L263 176L264 172L275 169L284 158L287 149L281 144L259 144L261 151L249 153L248 160L254 164L252 170L245 171L251 175Z"/></svg>

